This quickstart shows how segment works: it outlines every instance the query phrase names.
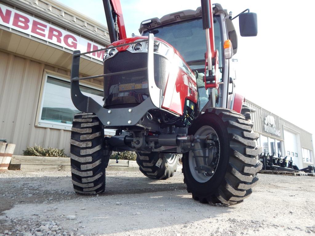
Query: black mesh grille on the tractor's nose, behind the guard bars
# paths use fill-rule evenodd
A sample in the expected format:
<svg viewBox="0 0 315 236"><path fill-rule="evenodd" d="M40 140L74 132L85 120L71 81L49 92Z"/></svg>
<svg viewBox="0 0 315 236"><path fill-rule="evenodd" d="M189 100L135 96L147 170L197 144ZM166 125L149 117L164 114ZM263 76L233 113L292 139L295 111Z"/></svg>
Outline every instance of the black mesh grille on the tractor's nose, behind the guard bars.
<svg viewBox="0 0 315 236"><path fill-rule="evenodd" d="M147 67L147 53L118 52L114 57L104 62L104 74L135 70ZM167 59L154 54L154 80L158 88L164 93L166 87ZM104 78L104 98L123 97L127 92L148 94L147 70L106 76ZM130 96L130 94L129 94ZM109 100L109 99L108 99Z"/></svg>

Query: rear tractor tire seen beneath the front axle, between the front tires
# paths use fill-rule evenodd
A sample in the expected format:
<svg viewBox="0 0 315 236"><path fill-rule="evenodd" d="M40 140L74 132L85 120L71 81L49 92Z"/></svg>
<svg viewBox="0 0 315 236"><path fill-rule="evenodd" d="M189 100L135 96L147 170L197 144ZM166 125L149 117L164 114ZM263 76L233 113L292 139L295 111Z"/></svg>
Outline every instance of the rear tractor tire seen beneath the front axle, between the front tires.
<svg viewBox="0 0 315 236"><path fill-rule="evenodd" d="M177 154L151 152L137 152L139 170L151 179L168 179L176 171L179 162Z"/></svg>

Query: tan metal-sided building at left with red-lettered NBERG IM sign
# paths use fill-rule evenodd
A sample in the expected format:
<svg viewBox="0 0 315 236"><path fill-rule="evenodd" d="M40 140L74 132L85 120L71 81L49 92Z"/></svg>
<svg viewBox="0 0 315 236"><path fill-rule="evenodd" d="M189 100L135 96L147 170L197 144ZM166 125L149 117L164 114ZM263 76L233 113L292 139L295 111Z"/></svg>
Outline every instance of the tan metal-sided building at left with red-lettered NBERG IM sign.
<svg viewBox="0 0 315 236"><path fill-rule="evenodd" d="M16 144L14 155L35 144L69 154L79 112L70 98L72 53L109 43L106 26L58 2L0 1L0 139ZM81 57L80 76L103 74L103 53ZM103 79L81 85L102 104Z"/></svg>

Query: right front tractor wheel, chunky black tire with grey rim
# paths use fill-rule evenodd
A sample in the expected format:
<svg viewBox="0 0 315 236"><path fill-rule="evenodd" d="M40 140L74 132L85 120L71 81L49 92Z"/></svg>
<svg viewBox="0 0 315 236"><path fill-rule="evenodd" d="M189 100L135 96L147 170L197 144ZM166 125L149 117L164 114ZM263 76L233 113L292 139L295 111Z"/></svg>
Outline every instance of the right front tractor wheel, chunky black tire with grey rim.
<svg viewBox="0 0 315 236"><path fill-rule="evenodd" d="M233 205L252 193L251 188L258 181L257 172L262 168L262 163L256 159L261 153L261 147L256 147L259 135L252 132L252 126L243 115L221 108L209 109L192 123L188 135L199 134L209 127L217 135L220 150L212 176L194 172L191 151L183 155L184 182L193 199L201 203Z"/></svg>

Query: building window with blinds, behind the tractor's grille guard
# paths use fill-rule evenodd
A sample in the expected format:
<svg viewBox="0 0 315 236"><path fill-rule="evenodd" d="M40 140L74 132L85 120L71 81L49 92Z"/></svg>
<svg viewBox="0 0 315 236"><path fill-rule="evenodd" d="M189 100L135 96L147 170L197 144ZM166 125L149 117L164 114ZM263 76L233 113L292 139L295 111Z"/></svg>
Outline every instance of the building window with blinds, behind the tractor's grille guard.
<svg viewBox="0 0 315 236"><path fill-rule="evenodd" d="M101 89L80 85L81 92L103 104ZM70 81L48 75L45 81L38 126L71 129L75 114L80 111L71 100Z"/></svg>

